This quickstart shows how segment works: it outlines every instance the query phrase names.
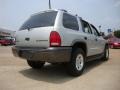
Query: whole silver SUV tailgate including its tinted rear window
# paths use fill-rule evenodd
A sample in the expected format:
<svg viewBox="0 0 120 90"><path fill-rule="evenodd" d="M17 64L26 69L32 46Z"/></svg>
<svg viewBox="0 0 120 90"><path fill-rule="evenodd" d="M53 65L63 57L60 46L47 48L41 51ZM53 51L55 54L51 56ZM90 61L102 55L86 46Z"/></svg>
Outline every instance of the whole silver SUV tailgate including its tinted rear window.
<svg viewBox="0 0 120 90"><path fill-rule="evenodd" d="M50 32L54 29L57 11L31 16L16 33L17 46L48 47Z"/></svg>

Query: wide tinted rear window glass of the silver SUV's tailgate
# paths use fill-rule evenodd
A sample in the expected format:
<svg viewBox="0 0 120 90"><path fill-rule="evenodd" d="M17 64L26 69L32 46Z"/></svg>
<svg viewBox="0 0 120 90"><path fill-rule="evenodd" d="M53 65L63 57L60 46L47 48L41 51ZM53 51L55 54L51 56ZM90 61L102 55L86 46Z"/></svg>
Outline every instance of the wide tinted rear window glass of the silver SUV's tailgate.
<svg viewBox="0 0 120 90"><path fill-rule="evenodd" d="M21 27L20 30L54 26L57 11L44 12L34 16L31 16Z"/></svg>

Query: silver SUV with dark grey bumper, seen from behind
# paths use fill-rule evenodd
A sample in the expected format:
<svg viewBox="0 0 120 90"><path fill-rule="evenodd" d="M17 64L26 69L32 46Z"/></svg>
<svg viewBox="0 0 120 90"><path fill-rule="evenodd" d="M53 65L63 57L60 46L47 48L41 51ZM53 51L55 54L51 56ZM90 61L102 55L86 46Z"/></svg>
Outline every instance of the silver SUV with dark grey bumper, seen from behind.
<svg viewBox="0 0 120 90"><path fill-rule="evenodd" d="M109 58L108 43L97 29L65 10L32 15L17 31L12 51L34 69L45 62L64 63L73 76L82 74L85 62Z"/></svg>

